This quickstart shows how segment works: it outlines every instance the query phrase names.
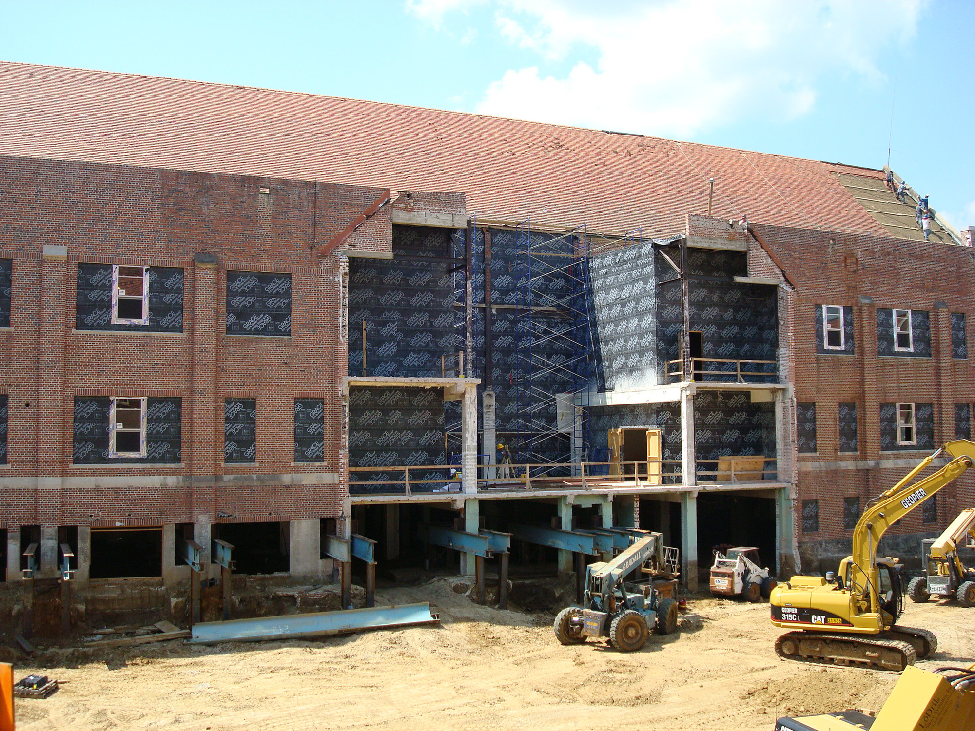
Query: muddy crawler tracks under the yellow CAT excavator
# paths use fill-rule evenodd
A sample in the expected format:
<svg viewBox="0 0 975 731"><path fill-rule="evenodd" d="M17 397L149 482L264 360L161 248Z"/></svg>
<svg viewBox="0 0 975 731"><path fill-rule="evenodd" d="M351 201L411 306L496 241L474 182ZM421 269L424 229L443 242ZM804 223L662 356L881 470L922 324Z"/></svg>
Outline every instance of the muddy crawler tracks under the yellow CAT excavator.
<svg viewBox="0 0 975 731"><path fill-rule="evenodd" d="M904 633L905 628L896 630ZM911 632L904 635L916 638L917 635L912 634L915 632L924 631L911 628ZM780 636L775 640L775 651L787 660L856 665L896 673L914 665L917 660L914 643L896 636L833 635L805 630Z"/></svg>

